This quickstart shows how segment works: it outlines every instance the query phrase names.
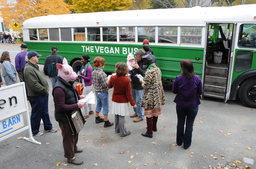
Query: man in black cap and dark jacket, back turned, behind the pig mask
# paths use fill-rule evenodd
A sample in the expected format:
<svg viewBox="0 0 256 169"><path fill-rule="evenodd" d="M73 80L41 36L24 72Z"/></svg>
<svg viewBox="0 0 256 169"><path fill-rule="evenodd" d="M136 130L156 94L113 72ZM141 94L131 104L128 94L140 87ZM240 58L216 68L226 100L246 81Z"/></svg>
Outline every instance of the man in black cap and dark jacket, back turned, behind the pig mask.
<svg viewBox="0 0 256 169"><path fill-rule="evenodd" d="M51 47L51 55L47 56L44 64L44 72L46 76L51 79L51 86L54 88L56 81L59 79L58 69L56 63L62 64L63 58L58 53L58 48L56 46Z"/></svg>

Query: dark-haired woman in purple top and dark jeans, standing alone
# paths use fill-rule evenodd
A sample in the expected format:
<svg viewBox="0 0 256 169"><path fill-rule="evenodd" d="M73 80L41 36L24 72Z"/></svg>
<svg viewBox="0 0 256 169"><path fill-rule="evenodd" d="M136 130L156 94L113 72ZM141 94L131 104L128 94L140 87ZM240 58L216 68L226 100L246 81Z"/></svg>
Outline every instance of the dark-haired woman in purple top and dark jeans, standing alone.
<svg viewBox="0 0 256 169"><path fill-rule="evenodd" d="M192 61L182 60L180 67L182 73L175 78L172 89L173 93L177 94L174 99L178 117L176 142L178 146L183 143L184 149L187 149L191 145L193 124L200 104L198 95L204 91L200 77L194 74Z"/></svg>

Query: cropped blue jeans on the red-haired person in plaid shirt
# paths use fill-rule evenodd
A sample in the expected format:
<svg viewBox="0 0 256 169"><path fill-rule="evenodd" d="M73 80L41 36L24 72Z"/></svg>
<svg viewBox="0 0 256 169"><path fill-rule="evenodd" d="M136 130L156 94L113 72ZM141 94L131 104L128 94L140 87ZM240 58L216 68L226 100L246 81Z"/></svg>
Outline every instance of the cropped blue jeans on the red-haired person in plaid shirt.
<svg viewBox="0 0 256 169"><path fill-rule="evenodd" d="M103 107L103 115L108 115L109 113L109 92L96 93L97 106L95 111L100 112Z"/></svg>

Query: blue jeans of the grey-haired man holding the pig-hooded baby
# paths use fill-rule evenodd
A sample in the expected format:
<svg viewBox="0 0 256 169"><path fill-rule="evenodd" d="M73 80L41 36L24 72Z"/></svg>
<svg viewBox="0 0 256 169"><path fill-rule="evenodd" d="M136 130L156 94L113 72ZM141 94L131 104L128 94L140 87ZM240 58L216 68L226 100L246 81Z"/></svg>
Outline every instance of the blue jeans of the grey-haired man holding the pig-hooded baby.
<svg viewBox="0 0 256 169"><path fill-rule="evenodd" d="M143 107L141 107L143 90L131 89L131 93L132 93L132 98L137 106L137 108L133 108L133 110L135 114L138 115L138 118L144 119Z"/></svg>

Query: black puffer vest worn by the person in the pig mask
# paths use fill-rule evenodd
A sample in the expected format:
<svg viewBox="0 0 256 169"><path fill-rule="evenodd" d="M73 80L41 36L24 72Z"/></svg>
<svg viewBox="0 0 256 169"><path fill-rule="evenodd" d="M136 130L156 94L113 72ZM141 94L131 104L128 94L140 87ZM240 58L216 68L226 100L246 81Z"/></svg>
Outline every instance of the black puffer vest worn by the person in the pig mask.
<svg viewBox="0 0 256 169"><path fill-rule="evenodd" d="M55 116L55 120L58 122L68 122L67 116L71 118L72 115L72 111L59 111L57 106L56 106L56 102L55 99L58 98L54 98L54 89L56 88L61 88L65 95L65 104L76 104L77 103L77 99L78 99L78 92L77 89L73 86L74 81L69 81L70 85L68 85L68 83L63 80L61 77L59 77L59 80L57 80L57 82L54 85L54 88L52 90L52 96L53 96L53 100L54 100L54 107L55 107L55 111L54 111L54 116ZM79 108L80 110L80 108ZM80 110L81 112L81 110ZM67 116L66 116L66 115Z"/></svg>

